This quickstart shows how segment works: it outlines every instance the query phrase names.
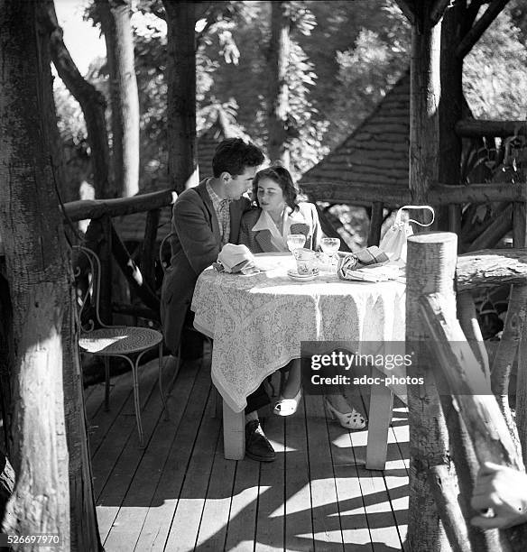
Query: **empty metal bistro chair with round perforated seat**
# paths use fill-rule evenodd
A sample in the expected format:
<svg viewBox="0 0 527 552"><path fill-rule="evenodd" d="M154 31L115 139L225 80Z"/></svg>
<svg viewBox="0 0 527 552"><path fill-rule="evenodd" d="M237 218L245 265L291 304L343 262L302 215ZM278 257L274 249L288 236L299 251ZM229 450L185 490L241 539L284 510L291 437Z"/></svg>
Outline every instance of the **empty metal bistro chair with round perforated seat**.
<svg viewBox="0 0 527 552"><path fill-rule="evenodd" d="M144 447L143 424L141 423L141 403L139 401L138 368L143 354L155 346L159 347L159 391L162 398L162 406L165 411L165 418L168 419L167 402L162 391L162 334L148 327L130 326L107 326L99 317L99 292L101 265L97 254L88 247L75 245L73 249L83 253L88 259L90 266L90 280L88 290L81 299L79 318L91 304L95 307L95 320L90 319L88 324L83 325L80 321L79 347L82 353L94 354L104 357L105 362L105 409L109 409L110 398L110 356L124 358L132 367L134 382L134 409L139 432L139 446ZM80 273L80 267L76 276ZM97 326L96 327L96 322ZM134 354L135 360L133 360Z"/></svg>

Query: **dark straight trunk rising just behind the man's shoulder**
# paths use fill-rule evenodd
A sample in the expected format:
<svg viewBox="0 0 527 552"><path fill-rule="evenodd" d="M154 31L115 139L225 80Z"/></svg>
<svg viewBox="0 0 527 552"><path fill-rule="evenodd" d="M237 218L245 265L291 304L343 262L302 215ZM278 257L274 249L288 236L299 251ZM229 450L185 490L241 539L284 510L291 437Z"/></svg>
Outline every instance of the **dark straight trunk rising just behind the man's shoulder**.
<svg viewBox="0 0 527 552"><path fill-rule="evenodd" d="M196 25L194 2L163 0L167 14L169 177L177 192L196 186Z"/></svg>

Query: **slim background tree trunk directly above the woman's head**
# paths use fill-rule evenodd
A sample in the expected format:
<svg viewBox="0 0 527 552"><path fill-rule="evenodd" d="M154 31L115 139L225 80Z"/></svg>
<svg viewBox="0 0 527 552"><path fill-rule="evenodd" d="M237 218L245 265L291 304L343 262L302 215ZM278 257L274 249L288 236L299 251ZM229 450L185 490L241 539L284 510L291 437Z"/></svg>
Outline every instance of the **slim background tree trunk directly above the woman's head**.
<svg viewBox="0 0 527 552"><path fill-rule="evenodd" d="M281 161L289 168L290 154L287 143L287 118L289 112L289 89L287 68L289 64L290 18L287 2L271 3L271 42L269 44L269 112L268 153L271 161Z"/></svg>

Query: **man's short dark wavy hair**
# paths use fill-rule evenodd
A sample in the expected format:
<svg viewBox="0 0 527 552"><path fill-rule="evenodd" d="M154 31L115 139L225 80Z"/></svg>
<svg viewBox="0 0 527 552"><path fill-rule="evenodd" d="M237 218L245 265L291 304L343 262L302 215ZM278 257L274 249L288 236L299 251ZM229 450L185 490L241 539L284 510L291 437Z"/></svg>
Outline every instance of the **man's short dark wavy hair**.
<svg viewBox="0 0 527 552"><path fill-rule="evenodd" d="M264 162L264 153L254 143L241 138L227 138L219 143L212 159L212 174L217 179L222 172L231 176L243 174L247 167L258 167Z"/></svg>

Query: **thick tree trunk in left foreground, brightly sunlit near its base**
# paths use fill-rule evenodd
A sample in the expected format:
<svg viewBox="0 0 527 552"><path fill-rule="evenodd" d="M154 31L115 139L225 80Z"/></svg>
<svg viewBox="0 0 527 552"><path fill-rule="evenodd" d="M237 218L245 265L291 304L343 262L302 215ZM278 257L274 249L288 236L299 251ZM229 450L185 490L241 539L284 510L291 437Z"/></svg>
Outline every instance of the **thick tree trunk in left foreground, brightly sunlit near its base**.
<svg viewBox="0 0 527 552"><path fill-rule="evenodd" d="M58 533L58 550L97 550L73 276L45 115L52 98L49 28L37 27L38 9L0 0L0 234L13 306L16 474L2 530Z"/></svg>

